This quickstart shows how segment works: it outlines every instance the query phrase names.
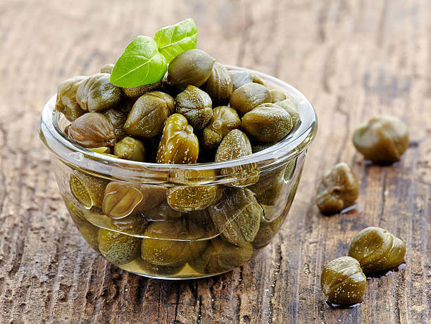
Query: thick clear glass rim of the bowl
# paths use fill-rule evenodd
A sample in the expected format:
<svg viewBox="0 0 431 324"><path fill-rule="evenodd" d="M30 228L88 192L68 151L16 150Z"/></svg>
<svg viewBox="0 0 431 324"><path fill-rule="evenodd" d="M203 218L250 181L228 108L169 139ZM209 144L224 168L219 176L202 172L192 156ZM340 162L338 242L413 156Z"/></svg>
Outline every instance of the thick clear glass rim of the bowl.
<svg viewBox="0 0 431 324"><path fill-rule="evenodd" d="M257 163L259 171L265 172L287 163L301 152L305 151L317 132L316 111L310 101L298 89L277 77L261 73L249 68L225 65L227 70L247 71L261 77L271 88L282 89L294 101L301 118L301 123L295 130L280 142L249 156L224 162L194 163L194 164L161 164L149 162L128 161L114 156L95 153L70 142L57 123L58 112L55 111L56 94L46 102L39 120L39 137L44 147L52 156L60 159L66 165L92 173L110 180L127 180L146 182L145 180L166 181L167 175L173 170L232 170L234 167ZM272 86L272 87L271 87ZM218 175L219 182L232 182L229 172ZM221 180L225 178L225 180ZM228 178L228 179L227 179Z"/></svg>

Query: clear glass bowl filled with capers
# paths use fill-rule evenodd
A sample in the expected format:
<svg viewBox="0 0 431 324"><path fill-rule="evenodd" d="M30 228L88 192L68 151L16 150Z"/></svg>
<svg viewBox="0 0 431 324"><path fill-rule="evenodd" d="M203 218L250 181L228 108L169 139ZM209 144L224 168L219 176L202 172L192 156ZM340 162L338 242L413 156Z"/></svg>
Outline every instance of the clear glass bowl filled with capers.
<svg viewBox="0 0 431 324"><path fill-rule="evenodd" d="M151 278L203 278L242 266L275 237L317 119L297 89L248 71L268 88L282 89L296 103L301 123L271 147L220 163L141 163L89 151L68 141L63 130L70 122L55 111L56 95L49 99L39 136L70 217L106 260Z"/></svg>

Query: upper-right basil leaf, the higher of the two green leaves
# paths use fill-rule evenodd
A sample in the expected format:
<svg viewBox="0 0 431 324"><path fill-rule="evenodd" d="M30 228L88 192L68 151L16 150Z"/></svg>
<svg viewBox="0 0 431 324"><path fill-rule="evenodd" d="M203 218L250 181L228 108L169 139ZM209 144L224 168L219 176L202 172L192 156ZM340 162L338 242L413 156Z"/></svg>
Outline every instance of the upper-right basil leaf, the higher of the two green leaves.
<svg viewBox="0 0 431 324"><path fill-rule="evenodd" d="M197 27L192 18L161 28L154 35L158 51L168 63L188 49L196 49Z"/></svg>

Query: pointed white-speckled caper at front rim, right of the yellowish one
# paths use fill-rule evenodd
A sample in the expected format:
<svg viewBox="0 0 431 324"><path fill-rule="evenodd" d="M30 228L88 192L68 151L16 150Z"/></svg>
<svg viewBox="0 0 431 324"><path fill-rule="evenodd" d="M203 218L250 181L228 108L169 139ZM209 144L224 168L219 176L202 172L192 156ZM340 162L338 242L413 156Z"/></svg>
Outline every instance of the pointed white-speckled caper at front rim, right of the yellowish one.
<svg viewBox="0 0 431 324"><path fill-rule="evenodd" d="M251 154L251 144L248 137L240 130L231 130L215 153L215 162L230 161ZM259 171L256 163L247 163L232 168L224 168L222 175L231 175L233 181L230 185L244 187L254 184L259 179Z"/></svg>

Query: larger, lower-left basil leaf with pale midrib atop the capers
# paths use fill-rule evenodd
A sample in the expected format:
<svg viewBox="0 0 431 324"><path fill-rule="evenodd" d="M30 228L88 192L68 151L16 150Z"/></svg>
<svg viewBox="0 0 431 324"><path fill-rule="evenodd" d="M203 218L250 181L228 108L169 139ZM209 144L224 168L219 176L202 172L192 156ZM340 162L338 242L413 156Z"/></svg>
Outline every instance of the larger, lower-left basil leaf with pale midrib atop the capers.
<svg viewBox="0 0 431 324"><path fill-rule="evenodd" d="M127 45L111 73L111 83L118 87L137 87L161 80L167 70L166 60L154 39L138 36Z"/></svg>

